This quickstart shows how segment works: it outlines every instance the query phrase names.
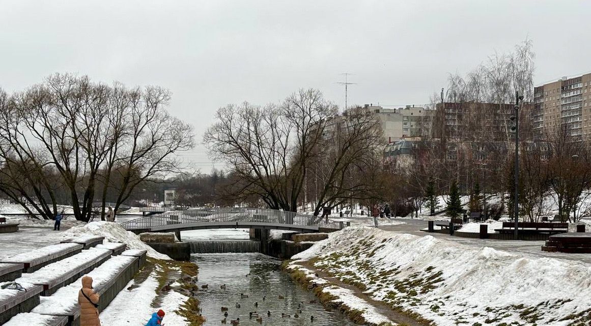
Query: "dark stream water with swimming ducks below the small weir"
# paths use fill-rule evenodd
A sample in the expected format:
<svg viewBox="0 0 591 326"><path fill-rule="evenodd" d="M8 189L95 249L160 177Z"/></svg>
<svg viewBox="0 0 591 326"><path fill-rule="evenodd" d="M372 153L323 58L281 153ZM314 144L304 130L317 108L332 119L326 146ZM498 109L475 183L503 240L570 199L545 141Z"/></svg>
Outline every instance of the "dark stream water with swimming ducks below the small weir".
<svg viewBox="0 0 591 326"><path fill-rule="evenodd" d="M259 253L231 253L193 254L191 260L199 265L197 284L200 288L207 285L207 289L197 292L202 314L207 318L204 325L221 325L222 306L228 307L228 325L230 319L236 318L240 318L241 325L259 325L255 317L249 318L249 312L254 311L261 314L263 325L355 325L338 311L324 311L322 304L310 303L317 301L316 296L282 272L279 259ZM220 288L223 284L226 289ZM241 298L241 293L248 298ZM300 302L301 313L296 318ZM237 303L240 308L236 308ZM267 317L267 311L271 311L271 317ZM282 318L282 313L291 317Z"/></svg>

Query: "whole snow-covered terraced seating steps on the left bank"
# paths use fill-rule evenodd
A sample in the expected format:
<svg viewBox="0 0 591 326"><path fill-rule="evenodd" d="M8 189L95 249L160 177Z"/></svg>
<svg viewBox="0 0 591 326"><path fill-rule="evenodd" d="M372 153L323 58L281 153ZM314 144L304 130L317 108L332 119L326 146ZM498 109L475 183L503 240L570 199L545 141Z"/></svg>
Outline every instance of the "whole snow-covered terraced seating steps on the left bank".
<svg viewBox="0 0 591 326"><path fill-rule="evenodd" d="M144 266L147 251L103 240L70 238L0 260L0 325L80 325L78 291L86 275L100 295L99 311L105 309Z"/></svg>

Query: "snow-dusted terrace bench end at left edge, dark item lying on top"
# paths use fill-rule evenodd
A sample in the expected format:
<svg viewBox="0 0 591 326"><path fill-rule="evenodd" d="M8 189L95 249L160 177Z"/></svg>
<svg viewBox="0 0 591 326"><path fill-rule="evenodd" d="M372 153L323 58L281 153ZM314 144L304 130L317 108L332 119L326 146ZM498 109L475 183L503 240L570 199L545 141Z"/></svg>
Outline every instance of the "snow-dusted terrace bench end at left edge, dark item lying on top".
<svg viewBox="0 0 591 326"><path fill-rule="evenodd" d="M11 289L14 286L5 288L9 283L0 283L0 325L21 312L30 312L39 304L39 296L43 292L43 286L31 283L19 283L16 286L19 289Z"/></svg>

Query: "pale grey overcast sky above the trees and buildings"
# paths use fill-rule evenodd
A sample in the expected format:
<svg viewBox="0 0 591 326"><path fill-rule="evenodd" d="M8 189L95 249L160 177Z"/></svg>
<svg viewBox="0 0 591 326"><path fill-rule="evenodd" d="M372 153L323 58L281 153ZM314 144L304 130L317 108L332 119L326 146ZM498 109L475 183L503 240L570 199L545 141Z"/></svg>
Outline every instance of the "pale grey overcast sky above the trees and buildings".
<svg viewBox="0 0 591 326"><path fill-rule="evenodd" d="M591 70L591 1L5 1L0 87L54 72L160 85L197 141L217 108L318 88L344 104L425 104L449 73L530 37L535 83ZM184 155L202 172L203 146Z"/></svg>

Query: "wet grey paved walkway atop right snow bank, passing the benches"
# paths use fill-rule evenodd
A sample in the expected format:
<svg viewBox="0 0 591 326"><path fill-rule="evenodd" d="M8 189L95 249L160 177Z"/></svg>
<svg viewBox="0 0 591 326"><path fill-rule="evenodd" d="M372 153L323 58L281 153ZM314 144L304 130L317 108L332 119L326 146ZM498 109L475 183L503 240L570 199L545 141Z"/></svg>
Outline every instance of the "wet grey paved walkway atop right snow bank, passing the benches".
<svg viewBox="0 0 591 326"><path fill-rule="evenodd" d="M432 235L436 238L442 238L445 240L456 241L458 243L466 244L474 247L491 247L496 250L508 251L515 254L527 254L528 256L537 257L550 257L558 259L569 259L579 260L584 263L591 264L591 254L567 254L567 253L548 253L541 250L544 241L524 241L524 240L491 240L491 239L478 239L478 238L462 238L454 237L449 234L441 233L427 233L420 231L422 228L427 228L427 221L423 220L411 220L408 218L395 219L394 221L405 222L400 225L383 225L378 227L382 230L392 231L395 233L410 233L424 237L426 235Z"/></svg>

